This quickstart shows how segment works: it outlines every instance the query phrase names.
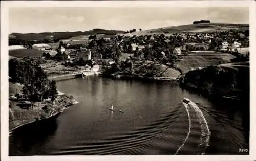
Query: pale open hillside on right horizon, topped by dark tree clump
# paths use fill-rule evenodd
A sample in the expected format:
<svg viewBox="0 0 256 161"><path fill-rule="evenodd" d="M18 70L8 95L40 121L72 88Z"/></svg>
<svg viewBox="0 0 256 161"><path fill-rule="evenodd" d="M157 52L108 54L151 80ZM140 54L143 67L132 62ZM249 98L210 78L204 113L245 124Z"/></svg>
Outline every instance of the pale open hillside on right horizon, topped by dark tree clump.
<svg viewBox="0 0 256 161"><path fill-rule="evenodd" d="M200 21L199 21L200 22ZM249 30L249 24L226 24L226 23L199 23L189 25L179 25L163 27L151 30L137 31L133 33L127 33L124 35L151 35L151 34L172 34L172 33L211 33L220 32L225 30Z"/></svg>

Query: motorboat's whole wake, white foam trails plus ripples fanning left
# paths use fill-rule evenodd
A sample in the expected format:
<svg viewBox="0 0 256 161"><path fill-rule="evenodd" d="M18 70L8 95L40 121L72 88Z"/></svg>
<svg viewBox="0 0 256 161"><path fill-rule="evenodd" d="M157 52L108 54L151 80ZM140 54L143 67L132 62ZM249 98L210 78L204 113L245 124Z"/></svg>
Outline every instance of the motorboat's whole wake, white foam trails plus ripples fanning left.
<svg viewBox="0 0 256 161"><path fill-rule="evenodd" d="M154 123L135 128L129 132L105 136L103 140L91 142L84 140L75 145L52 151L51 154L204 154L209 145L210 131L208 124L198 106L191 102L183 103L183 105L186 110L180 104L168 115L162 116ZM186 118L186 116L188 116L189 125L184 124L183 118Z"/></svg>

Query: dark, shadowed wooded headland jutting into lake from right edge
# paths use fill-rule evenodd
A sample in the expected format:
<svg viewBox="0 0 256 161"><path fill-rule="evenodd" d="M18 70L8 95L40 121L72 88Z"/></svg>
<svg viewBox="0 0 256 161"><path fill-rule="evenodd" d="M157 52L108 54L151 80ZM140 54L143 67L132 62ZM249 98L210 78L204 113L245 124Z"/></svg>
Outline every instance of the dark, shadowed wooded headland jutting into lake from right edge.
<svg viewBox="0 0 256 161"><path fill-rule="evenodd" d="M180 85L207 96L249 102L249 78L249 62L229 63L189 71L181 78Z"/></svg>

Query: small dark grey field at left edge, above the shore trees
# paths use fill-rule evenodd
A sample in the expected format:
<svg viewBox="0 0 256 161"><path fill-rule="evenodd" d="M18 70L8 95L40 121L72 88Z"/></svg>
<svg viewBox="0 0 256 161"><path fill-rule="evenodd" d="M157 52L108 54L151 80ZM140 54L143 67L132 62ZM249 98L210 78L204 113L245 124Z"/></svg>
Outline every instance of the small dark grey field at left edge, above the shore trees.
<svg viewBox="0 0 256 161"><path fill-rule="evenodd" d="M24 57L38 57L42 56L44 51L40 51L37 49L18 49L18 50L11 50L9 51L9 56L17 57L17 58L24 58Z"/></svg>

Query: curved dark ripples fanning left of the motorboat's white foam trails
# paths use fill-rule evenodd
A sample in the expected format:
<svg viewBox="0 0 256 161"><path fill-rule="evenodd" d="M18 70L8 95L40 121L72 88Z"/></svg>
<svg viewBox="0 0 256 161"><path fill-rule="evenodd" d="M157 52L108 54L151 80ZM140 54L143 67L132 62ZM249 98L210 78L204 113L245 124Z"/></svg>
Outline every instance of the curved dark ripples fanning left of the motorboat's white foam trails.
<svg viewBox="0 0 256 161"><path fill-rule="evenodd" d="M175 113L179 113L179 115L176 115ZM184 122L187 121L183 117L184 114L183 108L176 108L156 122L137 128L129 133L111 136L99 142L79 143L75 146L61 149L61 151L54 152L53 154L146 154L148 151L145 149L148 149L149 147L167 147L166 143L158 142L161 140L171 141L169 142L169 148L167 149L176 149L178 144L184 139L184 133L186 133L187 130L187 125L184 124ZM163 151L164 153L170 154L171 152L169 150Z"/></svg>

